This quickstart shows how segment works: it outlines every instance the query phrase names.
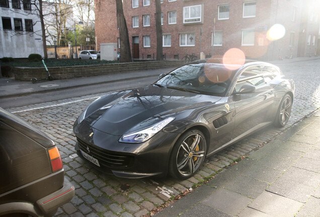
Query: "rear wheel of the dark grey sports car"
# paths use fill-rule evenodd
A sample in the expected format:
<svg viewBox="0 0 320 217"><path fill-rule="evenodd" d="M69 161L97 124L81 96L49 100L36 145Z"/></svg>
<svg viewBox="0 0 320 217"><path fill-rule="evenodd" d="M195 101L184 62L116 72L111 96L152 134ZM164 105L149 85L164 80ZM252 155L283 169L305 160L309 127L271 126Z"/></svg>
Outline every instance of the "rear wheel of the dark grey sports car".
<svg viewBox="0 0 320 217"><path fill-rule="evenodd" d="M276 119L274 120L273 124L275 127L282 128L284 127L290 118L291 114L291 107L292 107L292 99L289 94L285 94L281 99Z"/></svg>

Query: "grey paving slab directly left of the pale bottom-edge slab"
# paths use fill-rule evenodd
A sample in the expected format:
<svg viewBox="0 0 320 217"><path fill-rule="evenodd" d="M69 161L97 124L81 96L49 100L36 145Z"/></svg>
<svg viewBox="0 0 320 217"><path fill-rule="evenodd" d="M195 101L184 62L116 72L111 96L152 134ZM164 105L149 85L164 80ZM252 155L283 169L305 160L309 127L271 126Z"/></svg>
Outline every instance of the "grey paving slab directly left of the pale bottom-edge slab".
<svg viewBox="0 0 320 217"><path fill-rule="evenodd" d="M220 188L205 198L202 203L225 213L236 215L244 209L250 202L251 198L241 194ZM232 205L230 205L232 204Z"/></svg>

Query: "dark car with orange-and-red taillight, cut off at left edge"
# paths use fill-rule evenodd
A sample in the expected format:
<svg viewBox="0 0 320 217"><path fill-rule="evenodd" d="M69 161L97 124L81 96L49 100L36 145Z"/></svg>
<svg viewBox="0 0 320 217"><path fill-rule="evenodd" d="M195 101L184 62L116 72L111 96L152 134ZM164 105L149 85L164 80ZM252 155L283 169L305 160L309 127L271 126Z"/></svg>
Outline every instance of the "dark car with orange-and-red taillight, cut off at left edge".
<svg viewBox="0 0 320 217"><path fill-rule="evenodd" d="M0 108L0 216L52 216L75 191L43 132Z"/></svg>

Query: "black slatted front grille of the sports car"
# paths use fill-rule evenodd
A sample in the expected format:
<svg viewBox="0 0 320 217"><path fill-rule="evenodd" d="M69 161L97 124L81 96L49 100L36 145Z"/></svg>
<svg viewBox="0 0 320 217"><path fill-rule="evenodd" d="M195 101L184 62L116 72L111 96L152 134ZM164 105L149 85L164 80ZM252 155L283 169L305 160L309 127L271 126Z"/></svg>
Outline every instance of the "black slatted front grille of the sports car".
<svg viewBox="0 0 320 217"><path fill-rule="evenodd" d="M133 156L125 156L108 152L77 138L79 148L88 154L87 147L90 149L90 155L98 159L99 163L112 168L129 167L133 162Z"/></svg>

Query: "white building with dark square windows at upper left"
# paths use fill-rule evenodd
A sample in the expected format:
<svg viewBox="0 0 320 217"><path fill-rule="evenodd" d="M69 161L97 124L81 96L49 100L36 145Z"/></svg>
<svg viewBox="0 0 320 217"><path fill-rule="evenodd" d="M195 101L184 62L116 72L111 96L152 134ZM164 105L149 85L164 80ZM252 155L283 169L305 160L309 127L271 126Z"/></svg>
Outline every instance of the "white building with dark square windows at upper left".
<svg viewBox="0 0 320 217"><path fill-rule="evenodd" d="M41 23L31 0L0 0L0 16L0 58L44 55Z"/></svg>

